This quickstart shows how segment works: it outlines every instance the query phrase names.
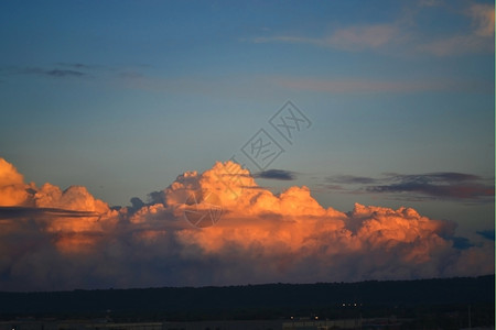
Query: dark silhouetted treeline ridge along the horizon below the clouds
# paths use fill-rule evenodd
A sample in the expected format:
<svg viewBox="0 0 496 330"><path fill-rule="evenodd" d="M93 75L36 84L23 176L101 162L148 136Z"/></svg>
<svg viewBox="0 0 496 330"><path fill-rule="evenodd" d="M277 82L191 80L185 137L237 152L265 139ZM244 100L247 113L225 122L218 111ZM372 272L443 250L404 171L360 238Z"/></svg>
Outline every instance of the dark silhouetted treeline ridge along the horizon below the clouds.
<svg viewBox="0 0 496 330"><path fill-rule="evenodd" d="M73 292L0 292L0 318L111 318L112 320L326 318L416 312L494 318L495 276L360 283L266 284Z"/></svg>

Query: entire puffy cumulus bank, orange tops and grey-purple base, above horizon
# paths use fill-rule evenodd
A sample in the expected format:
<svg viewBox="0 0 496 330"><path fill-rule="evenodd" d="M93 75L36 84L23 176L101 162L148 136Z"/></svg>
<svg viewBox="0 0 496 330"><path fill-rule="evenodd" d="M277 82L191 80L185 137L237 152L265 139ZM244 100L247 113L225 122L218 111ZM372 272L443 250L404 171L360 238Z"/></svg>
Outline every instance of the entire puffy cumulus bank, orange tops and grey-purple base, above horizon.
<svg viewBox="0 0 496 330"><path fill-rule="evenodd" d="M129 207L110 208L85 187L25 184L0 160L0 289L494 272L494 241L472 245L454 235L453 222L403 207L356 204L345 213L322 207L304 186L274 195L231 162L186 172L149 197L149 202L132 198Z"/></svg>

